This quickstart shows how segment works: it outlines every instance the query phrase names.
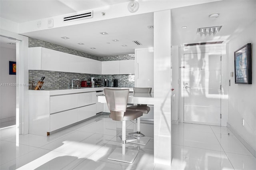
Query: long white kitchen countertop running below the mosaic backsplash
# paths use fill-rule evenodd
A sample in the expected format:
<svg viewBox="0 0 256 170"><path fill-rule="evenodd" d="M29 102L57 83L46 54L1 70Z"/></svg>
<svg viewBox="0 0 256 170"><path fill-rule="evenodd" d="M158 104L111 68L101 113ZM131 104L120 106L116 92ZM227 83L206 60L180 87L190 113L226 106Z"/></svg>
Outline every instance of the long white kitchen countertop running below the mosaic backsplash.
<svg viewBox="0 0 256 170"><path fill-rule="evenodd" d="M110 88L110 89L129 89L130 93L133 92L132 87L87 87L87 88L81 88L81 89L64 89L64 90L29 90L29 95L66 95L66 94L73 94L73 93L85 93L85 92L91 92L91 91L101 91L104 88Z"/></svg>

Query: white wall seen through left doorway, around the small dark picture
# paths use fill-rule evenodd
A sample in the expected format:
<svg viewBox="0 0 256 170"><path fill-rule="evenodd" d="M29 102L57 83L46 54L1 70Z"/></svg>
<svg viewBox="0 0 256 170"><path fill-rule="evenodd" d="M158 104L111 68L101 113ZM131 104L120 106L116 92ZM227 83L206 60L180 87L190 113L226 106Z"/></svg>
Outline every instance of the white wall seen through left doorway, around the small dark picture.
<svg viewBox="0 0 256 170"><path fill-rule="evenodd" d="M16 75L9 75L9 61L16 61L16 50L0 47L0 84L16 83ZM0 86L0 122L16 117L16 87Z"/></svg>

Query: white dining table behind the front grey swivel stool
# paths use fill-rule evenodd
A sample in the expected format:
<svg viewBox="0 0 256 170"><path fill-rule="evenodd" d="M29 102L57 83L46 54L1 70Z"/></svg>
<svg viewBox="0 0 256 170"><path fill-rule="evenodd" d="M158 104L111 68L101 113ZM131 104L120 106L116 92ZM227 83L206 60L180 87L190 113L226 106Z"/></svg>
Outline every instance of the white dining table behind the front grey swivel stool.
<svg viewBox="0 0 256 170"><path fill-rule="evenodd" d="M98 102L107 103L105 95L98 95ZM129 93L127 103L154 105L154 93Z"/></svg>

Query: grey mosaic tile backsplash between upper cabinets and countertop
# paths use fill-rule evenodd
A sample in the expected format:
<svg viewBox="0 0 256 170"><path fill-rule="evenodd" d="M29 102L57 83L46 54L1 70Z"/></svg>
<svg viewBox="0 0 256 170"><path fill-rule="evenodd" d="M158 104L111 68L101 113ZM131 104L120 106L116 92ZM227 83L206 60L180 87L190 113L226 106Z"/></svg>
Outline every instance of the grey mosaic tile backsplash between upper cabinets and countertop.
<svg viewBox="0 0 256 170"><path fill-rule="evenodd" d="M72 84L72 79L79 79L79 81L74 81L74 85L81 86L81 81L89 81L90 77L95 77L101 79L101 87L104 86L104 79L112 80L118 79L118 87L134 87L135 86L135 75L95 75L95 74L84 74L84 73L67 73L59 71L45 71L45 70L29 70L29 89L34 90L35 83L37 83L41 77L44 79L44 90L61 90L70 89ZM113 82L111 82L111 87Z"/></svg>

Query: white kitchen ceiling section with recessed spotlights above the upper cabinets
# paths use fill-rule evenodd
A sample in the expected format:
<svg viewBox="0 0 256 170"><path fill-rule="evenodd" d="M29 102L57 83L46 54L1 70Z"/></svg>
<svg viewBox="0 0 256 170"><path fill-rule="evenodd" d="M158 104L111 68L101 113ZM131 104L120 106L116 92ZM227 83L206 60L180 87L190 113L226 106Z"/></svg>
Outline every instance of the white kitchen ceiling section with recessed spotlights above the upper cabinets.
<svg viewBox="0 0 256 170"><path fill-rule="evenodd" d="M78 24L23 35L55 43L96 56L124 55L134 53L135 48L153 47L153 13L114 18L85 24ZM102 35L100 32L107 32ZM61 37L70 39L62 39ZM113 42L112 40L119 40ZM132 41L139 41L136 45ZM79 45L78 43L84 43ZM122 45L127 45L123 47ZM94 47L96 49L90 49Z"/></svg>

